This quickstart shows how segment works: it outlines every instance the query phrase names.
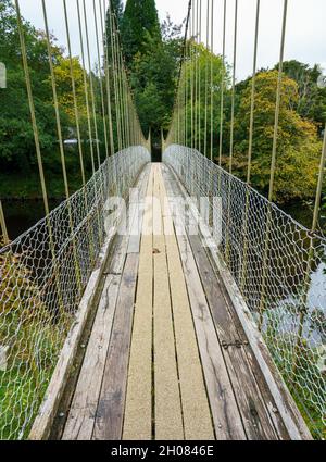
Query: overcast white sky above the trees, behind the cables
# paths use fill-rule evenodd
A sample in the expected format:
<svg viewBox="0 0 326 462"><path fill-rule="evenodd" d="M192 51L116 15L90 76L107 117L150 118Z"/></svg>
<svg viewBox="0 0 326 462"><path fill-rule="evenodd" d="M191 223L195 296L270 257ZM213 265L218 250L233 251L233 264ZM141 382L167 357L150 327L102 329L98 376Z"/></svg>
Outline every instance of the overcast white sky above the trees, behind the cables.
<svg viewBox="0 0 326 462"><path fill-rule="evenodd" d="M211 0L210 0L211 1ZM223 0L214 1L214 51L222 52ZM78 28L75 0L66 0L74 54L79 54ZM80 2L83 3L83 1ZM205 36L205 9L203 4L203 36ZM95 22L92 0L86 0L92 55L95 48ZM98 0L96 0L98 5ZM237 79L252 72L253 33L256 0L239 0L239 36ZM280 26L284 0L261 0L261 25L258 67L271 67L278 62ZM62 0L47 0L50 28L59 42L66 45L63 23ZM161 21L168 12L172 20L180 23L187 15L188 0L156 0ZM25 18L38 28L43 28L40 0L21 0ZM227 60L231 63L235 0L227 0ZM322 64L326 68L326 0L289 0L288 27L285 59L297 59L310 64Z"/></svg>

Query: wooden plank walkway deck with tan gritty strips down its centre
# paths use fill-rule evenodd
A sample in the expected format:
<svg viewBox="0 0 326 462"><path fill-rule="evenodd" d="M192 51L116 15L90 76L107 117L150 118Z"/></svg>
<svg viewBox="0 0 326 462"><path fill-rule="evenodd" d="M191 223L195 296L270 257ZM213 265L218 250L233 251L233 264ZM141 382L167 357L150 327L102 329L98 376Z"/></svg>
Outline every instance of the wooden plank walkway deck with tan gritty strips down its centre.
<svg viewBox="0 0 326 462"><path fill-rule="evenodd" d="M175 232L175 176L151 164L137 189L140 229L103 276L62 439L289 439L200 236Z"/></svg>

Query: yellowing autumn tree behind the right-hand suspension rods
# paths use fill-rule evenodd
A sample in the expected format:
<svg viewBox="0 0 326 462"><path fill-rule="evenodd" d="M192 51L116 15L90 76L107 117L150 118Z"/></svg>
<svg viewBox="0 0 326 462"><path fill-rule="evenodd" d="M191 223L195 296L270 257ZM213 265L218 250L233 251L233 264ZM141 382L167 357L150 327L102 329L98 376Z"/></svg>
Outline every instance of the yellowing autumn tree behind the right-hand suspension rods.
<svg viewBox="0 0 326 462"><path fill-rule="evenodd" d="M269 184L277 76L277 71L269 71L256 77L252 185L261 191L266 191ZM296 111L298 102L298 84L284 75L275 177L275 196L279 202L309 199L316 189L321 140L316 125ZM235 173L242 178L247 170L250 104L251 80L242 91L235 121Z"/></svg>

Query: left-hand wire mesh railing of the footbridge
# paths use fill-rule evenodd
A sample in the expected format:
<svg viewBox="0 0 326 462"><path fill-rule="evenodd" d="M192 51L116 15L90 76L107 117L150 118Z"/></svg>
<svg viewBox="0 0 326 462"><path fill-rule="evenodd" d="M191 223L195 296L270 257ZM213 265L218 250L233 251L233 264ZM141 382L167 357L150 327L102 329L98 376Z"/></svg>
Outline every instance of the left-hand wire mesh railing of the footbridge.
<svg viewBox="0 0 326 462"><path fill-rule="evenodd" d="M125 198L149 160L141 146L110 157L83 189L0 249L0 439L28 435L105 240L106 200Z"/></svg>

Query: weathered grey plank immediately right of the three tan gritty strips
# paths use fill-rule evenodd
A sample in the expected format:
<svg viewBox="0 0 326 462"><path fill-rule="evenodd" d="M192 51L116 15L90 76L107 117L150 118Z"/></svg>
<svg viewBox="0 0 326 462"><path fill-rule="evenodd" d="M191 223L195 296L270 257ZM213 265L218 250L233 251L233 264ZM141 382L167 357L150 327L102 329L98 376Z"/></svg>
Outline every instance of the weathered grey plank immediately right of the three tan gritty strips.
<svg viewBox="0 0 326 462"><path fill-rule="evenodd" d="M166 187L167 192L173 196L168 183L166 183ZM185 229L183 235L177 235L177 241L188 287L216 438L220 440L246 440L247 436L237 401Z"/></svg>

